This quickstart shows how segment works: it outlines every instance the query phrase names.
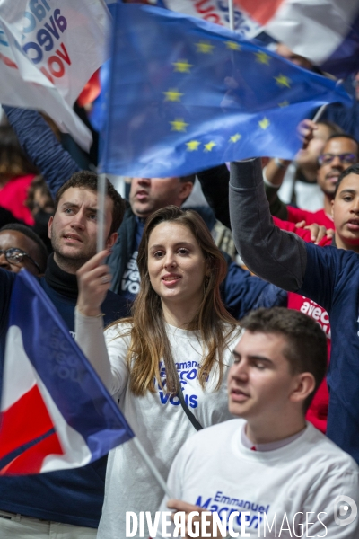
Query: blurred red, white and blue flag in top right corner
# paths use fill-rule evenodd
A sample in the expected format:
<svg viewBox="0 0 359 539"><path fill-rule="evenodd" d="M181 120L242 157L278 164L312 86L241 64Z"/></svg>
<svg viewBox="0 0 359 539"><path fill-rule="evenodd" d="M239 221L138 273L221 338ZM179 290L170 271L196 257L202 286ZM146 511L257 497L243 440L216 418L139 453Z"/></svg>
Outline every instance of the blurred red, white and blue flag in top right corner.
<svg viewBox="0 0 359 539"><path fill-rule="evenodd" d="M359 69L359 0L234 0L273 38L338 77Z"/></svg>

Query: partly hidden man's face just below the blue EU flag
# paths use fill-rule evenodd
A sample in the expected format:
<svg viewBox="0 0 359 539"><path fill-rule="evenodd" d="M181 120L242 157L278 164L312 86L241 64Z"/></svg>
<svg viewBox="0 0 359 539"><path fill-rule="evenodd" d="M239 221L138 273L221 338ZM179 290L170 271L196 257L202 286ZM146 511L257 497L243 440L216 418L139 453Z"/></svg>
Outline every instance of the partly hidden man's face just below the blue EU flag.
<svg viewBox="0 0 359 539"><path fill-rule="evenodd" d="M171 204L180 207L192 188L180 178L132 178L129 202L134 214L145 218Z"/></svg>

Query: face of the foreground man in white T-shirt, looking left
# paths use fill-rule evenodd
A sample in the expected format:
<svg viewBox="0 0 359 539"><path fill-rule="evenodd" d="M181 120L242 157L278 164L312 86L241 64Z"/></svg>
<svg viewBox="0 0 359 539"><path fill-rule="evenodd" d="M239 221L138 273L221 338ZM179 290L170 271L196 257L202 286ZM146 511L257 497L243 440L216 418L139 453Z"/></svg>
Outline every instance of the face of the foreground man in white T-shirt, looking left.
<svg viewBox="0 0 359 539"><path fill-rule="evenodd" d="M233 350L228 375L229 411L246 420L277 421L291 400L301 375L293 375L283 335L246 330Z"/></svg>

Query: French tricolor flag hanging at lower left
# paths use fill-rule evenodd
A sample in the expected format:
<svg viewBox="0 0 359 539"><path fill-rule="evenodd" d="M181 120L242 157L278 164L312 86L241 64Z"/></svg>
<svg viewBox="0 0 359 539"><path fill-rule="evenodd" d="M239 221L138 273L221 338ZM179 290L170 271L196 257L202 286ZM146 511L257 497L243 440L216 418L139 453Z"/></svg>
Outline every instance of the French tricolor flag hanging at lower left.
<svg viewBox="0 0 359 539"><path fill-rule="evenodd" d="M0 474L89 464L134 437L36 278L13 285L4 355Z"/></svg>

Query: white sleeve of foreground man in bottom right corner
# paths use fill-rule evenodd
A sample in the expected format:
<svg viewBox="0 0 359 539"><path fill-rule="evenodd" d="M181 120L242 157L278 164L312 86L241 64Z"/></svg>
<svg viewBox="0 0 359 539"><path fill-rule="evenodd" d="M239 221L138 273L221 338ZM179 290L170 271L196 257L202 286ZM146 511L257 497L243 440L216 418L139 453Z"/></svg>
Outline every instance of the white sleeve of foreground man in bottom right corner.
<svg viewBox="0 0 359 539"><path fill-rule="evenodd" d="M359 537L359 517L350 522L355 515L359 500L359 473L357 470L333 470L312 485L306 499L307 512L303 517L303 536L327 537L327 539L355 539ZM342 509L342 511L340 511ZM356 509L357 510L357 509ZM354 513L353 513L354 511ZM306 524L306 517L309 523ZM336 518L337 517L337 518Z"/></svg>

